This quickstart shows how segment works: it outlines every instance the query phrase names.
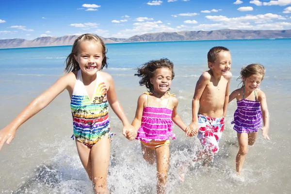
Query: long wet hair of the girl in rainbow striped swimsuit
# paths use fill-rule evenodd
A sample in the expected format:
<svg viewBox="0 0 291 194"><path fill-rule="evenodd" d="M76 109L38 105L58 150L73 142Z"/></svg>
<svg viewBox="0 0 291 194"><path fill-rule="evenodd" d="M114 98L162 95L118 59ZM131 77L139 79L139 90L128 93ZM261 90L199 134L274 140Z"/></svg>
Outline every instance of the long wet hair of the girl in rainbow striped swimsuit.
<svg viewBox="0 0 291 194"><path fill-rule="evenodd" d="M69 72L72 72L72 71L78 71L80 69L80 65L79 63L76 61L74 55L77 55L78 54L78 51L79 51L79 43L81 41L95 41L96 44L100 44L100 46L102 47L102 57L103 57L103 60L102 60L102 65L101 65L101 69L103 69L103 67L107 67L107 57L106 57L106 47L105 47L105 44L103 42L103 40L97 36L96 34L92 34L92 33L85 33L85 34L82 34L81 36L79 36L74 44L73 44L73 47L72 47L72 51L71 53L68 55L68 57L66 58L65 60L65 72L66 73L69 73Z"/></svg>

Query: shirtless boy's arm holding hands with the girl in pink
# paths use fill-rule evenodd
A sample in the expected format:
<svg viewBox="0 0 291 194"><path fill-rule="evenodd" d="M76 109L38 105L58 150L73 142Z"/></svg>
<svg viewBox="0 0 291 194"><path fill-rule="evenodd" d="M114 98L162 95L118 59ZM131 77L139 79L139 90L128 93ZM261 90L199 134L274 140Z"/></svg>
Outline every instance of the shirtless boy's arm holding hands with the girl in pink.
<svg viewBox="0 0 291 194"><path fill-rule="evenodd" d="M209 81L210 81L210 74L208 72L204 72L196 83L194 97L192 99L192 122L186 128L187 136L189 136L192 130L194 130L195 133L198 132L199 101Z"/></svg>

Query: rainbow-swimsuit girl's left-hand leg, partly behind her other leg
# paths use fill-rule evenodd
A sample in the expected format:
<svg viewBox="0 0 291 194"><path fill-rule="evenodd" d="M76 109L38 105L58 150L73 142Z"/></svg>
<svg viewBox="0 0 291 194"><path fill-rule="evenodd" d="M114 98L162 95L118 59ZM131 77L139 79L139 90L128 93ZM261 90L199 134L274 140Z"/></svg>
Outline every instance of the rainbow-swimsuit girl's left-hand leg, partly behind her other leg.
<svg viewBox="0 0 291 194"><path fill-rule="evenodd" d="M83 143L76 139L76 146L79 153L80 160L90 178L92 180L92 162L91 162L91 148L85 146Z"/></svg>

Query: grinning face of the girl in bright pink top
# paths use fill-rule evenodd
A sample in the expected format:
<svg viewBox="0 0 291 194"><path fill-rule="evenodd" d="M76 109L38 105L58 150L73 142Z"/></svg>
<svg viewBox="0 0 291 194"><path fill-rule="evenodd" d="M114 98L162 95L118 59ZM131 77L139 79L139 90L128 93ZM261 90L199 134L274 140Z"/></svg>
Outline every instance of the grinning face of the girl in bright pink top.
<svg viewBox="0 0 291 194"><path fill-rule="evenodd" d="M154 86L154 92L165 93L171 87L172 71L167 67L158 68L155 70L155 75L150 79L150 82Z"/></svg>

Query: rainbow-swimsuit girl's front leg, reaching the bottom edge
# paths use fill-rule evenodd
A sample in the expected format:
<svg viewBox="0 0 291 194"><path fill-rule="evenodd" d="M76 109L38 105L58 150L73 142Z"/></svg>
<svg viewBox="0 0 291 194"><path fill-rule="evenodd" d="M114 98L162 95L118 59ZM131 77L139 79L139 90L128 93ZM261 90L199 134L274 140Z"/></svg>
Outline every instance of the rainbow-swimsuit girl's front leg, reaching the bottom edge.
<svg viewBox="0 0 291 194"><path fill-rule="evenodd" d="M91 148L93 188L97 194L108 194L107 175L110 161L110 139L103 137Z"/></svg>

